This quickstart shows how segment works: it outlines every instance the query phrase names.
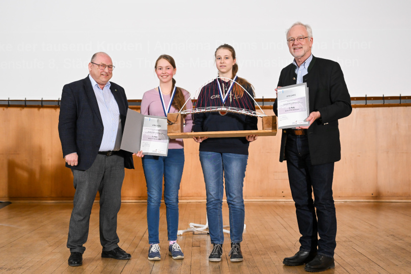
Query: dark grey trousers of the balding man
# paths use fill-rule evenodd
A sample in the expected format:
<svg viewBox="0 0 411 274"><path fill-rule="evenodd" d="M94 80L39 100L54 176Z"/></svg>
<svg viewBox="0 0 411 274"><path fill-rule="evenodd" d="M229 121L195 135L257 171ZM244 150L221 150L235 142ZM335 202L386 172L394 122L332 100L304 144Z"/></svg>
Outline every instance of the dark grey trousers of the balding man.
<svg viewBox="0 0 411 274"><path fill-rule="evenodd" d="M86 248L91 208L97 191L100 194L100 243L103 251L118 247L117 213L121 206L121 186L124 179L124 158L120 155L97 154L87 170L73 170L73 212L68 227L67 248L83 253Z"/></svg>

